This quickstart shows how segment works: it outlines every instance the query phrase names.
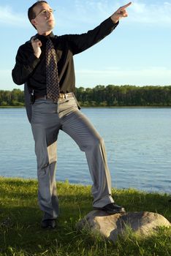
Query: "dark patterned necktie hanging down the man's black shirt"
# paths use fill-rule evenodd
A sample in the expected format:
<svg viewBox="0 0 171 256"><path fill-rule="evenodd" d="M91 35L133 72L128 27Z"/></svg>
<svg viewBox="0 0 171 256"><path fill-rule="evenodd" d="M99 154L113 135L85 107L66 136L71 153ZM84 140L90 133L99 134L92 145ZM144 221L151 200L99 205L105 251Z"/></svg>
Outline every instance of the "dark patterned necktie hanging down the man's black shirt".
<svg viewBox="0 0 171 256"><path fill-rule="evenodd" d="M58 67L56 61L56 50L53 42L48 39L46 43L46 83L47 83L47 97L53 102L58 102L59 96L59 80Z"/></svg>

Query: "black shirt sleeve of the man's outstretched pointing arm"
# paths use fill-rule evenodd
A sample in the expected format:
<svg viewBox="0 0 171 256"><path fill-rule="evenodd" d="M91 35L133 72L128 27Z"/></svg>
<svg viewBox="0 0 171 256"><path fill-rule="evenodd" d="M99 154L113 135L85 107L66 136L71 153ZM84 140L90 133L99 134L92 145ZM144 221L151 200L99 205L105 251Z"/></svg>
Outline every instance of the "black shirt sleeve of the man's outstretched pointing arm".
<svg viewBox="0 0 171 256"><path fill-rule="evenodd" d="M101 41L104 37L110 34L118 23L113 23L111 18L104 20L95 29L89 30L84 34L71 34L68 35L69 45L73 55L82 52Z"/></svg>

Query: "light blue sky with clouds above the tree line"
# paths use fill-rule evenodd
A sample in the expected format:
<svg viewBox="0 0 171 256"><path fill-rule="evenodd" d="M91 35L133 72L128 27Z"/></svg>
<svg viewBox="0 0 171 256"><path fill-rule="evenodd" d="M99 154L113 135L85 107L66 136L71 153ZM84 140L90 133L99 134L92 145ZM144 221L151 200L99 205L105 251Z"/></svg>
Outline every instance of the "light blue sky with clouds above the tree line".
<svg viewBox="0 0 171 256"><path fill-rule="evenodd" d="M56 10L54 34L80 34L94 29L122 0L50 0ZM12 82L18 47L36 30L27 18L33 0L0 2L0 89L18 88ZM129 17L110 36L75 56L76 86L171 85L171 0L134 0ZM21 86L20 89L23 89Z"/></svg>

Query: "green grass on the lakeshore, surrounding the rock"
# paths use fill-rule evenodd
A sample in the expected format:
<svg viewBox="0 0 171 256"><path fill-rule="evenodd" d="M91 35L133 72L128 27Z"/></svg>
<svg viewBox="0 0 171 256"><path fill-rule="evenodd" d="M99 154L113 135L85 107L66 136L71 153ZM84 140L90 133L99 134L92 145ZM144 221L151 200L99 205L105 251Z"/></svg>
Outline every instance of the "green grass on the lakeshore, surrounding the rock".
<svg viewBox="0 0 171 256"><path fill-rule="evenodd" d="M42 230L37 206L37 181L0 178L0 255L57 256L165 256L171 255L171 229L160 227L150 238L131 230L116 244L77 232L75 224L92 210L91 187L58 183L60 216L56 230ZM153 211L171 222L171 195L113 189L113 196L126 211Z"/></svg>

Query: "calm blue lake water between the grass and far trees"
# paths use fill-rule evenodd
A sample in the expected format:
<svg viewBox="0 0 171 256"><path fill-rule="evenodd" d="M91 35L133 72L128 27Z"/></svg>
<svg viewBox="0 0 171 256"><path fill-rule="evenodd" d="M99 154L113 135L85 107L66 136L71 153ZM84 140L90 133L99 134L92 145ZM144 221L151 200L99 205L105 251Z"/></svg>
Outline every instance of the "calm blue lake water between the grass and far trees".
<svg viewBox="0 0 171 256"><path fill-rule="evenodd" d="M113 187L171 194L171 108L83 108L104 138ZM37 178L25 109L0 109L0 176ZM59 132L58 181L92 184L86 157Z"/></svg>

